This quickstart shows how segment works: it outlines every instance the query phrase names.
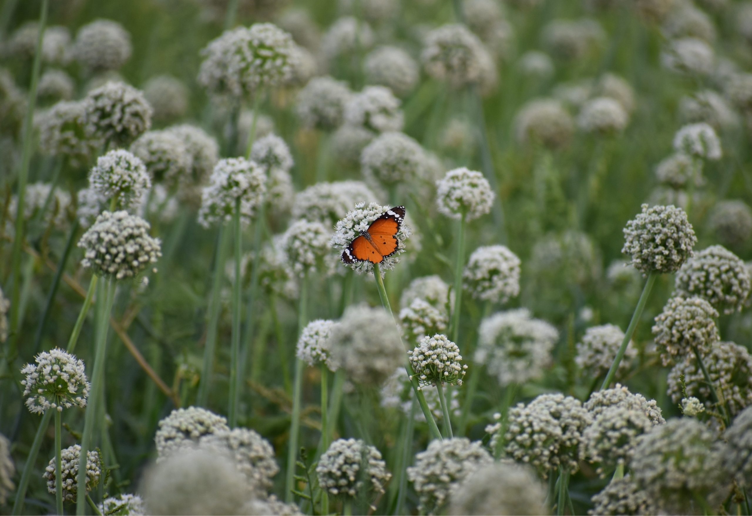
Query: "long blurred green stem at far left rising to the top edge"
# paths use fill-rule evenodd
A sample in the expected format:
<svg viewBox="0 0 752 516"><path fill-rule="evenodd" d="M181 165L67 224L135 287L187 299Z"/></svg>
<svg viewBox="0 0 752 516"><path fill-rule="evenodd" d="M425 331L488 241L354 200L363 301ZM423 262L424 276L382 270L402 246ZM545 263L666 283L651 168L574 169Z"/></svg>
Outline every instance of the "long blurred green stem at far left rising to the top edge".
<svg viewBox="0 0 752 516"><path fill-rule="evenodd" d="M23 214L26 203L26 183L29 180L29 165L32 161L32 145L34 143L34 124L32 122L37 103L39 71L42 65L42 39L44 37L44 29L47 26L47 11L49 11L49 7L50 0L42 0L39 11L39 23L37 25L37 46L34 53L34 63L32 64L32 83L29 85L29 100L26 105L26 116L23 119L23 148L21 150L21 168L18 172L16 228L13 238L13 250L11 251L11 271L13 273L13 284L11 286L11 341L7 353L10 357L14 357L16 354L18 327L21 320L19 299L21 293L21 247L24 239Z"/></svg>

